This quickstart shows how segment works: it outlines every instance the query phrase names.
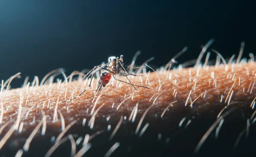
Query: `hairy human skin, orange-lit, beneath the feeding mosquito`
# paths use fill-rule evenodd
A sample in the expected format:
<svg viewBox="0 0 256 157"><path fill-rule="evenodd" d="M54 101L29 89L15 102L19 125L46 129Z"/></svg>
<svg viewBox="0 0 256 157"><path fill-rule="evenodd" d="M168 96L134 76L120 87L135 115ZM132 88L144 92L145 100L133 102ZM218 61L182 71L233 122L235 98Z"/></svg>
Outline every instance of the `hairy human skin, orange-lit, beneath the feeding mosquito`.
<svg viewBox="0 0 256 157"><path fill-rule="evenodd" d="M3 82L0 155L168 157L253 152L255 62L236 61L128 76L133 84L149 88L135 87L137 91L111 79L89 104L96 79L80 97L61 103L88 87L81 73L77 81L53 83L48 77L42 84L35 79L12 90Z"/></svg>

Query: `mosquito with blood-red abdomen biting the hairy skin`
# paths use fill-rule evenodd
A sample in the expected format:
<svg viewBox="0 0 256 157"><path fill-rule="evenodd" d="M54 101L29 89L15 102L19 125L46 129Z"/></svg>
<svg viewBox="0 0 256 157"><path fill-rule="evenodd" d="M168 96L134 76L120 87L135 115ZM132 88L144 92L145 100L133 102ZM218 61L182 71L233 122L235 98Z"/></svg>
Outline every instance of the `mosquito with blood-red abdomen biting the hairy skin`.
<svg viewBox="0 0 256 157"><path fill-rule="evenodd" d="M145 67L145 66L133 67L133 69L142 68L142 67ZM102 72L101 74L100 74L100 71ZM145 87L145 86L139 86L139 85L135 85L135 84L131 83L131 81L129 80L129 78L127 76L129 76L129 75L132 75L132 76L144 76L145 74L144 75L135 75L135 74L130 73L128 71L128 67L123 64L123 55L120 55L120 58L119 57L115 57L115 56L111 56L111 57L108 58L108 63L107 64L98 65L98 66L94 67L92 70L90 70L89 73L87 73L86 76L84 76L84 78L87 77L87 76L88 76L87 78L89 78L91 76L89 87L91 86L91 83L92 83L92 80L93 80L92 79L93 78L93 74L96 73L96 72L99 74L100 77L98 79L96 88L94 90L95 96L93 98L95 98L101 92L101 90L109 83L111 77L113 77L113 79L115 79L117 81L121 81L121 82L124 82L126 84L132 85L134 90L137 90L135 87L148 88L148 87ZM119 75L121 72L123 72L123 76L125 76L130 83L115 78L115 76ZM75 98L72 98L72 99L66 100L66 101L72 101L72 100L78 98L87 89L88 88L86 88L82 93L80 93ZM93 98L90 101L92 101ZM61 102L66 102L66 101L61 101ZM87 102L87 104L89 104L90 101Z"/></svg>

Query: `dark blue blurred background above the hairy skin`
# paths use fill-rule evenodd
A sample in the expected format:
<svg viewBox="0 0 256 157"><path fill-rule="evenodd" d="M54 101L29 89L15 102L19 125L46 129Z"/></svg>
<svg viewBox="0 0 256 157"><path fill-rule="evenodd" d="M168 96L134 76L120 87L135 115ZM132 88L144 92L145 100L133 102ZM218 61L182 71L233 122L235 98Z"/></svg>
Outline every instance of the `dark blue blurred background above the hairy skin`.
<svg viewBox="0 0 256 157"><path fill-rule="evenodd" d="M120 54L130 64L138 50L137 64L154 56L160 67L188 46L182 63L210 39L224 58L244 41L248 56L256 51L253 10L233 0L1 0L0 80L21 72L12 84L20 87L26 76L42 79L60 67L69 75Z"/></svg>

